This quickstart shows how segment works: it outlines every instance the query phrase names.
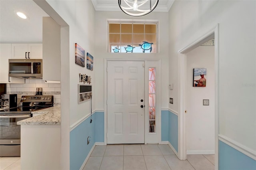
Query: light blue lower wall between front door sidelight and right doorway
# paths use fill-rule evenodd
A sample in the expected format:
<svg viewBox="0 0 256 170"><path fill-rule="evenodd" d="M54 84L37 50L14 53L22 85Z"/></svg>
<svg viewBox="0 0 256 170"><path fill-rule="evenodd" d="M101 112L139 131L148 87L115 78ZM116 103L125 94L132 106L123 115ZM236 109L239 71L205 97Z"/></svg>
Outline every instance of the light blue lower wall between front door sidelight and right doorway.
<svg viewBox="0 0 256 170"><path fill-rule="evenodd" d="M171 111L161 111L162 141L169 141L178 152L178 116Z"/></svg>

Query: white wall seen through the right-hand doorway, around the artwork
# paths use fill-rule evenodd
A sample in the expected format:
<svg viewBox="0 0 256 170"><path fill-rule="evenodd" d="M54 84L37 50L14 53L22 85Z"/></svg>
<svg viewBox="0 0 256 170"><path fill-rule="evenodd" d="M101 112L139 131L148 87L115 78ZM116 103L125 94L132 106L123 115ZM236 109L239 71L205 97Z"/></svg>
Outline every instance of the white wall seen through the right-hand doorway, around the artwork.
<svg viewBox="0 0 256 170"><path fill-rule="evenodd" d="M214 153L214 46L199 46L193 49L187 53L186 61L187 153L195 151ZM206 68L206 87L193 87L194 68ZM203 99L209 100L209 106L203 105Z"/></svg>

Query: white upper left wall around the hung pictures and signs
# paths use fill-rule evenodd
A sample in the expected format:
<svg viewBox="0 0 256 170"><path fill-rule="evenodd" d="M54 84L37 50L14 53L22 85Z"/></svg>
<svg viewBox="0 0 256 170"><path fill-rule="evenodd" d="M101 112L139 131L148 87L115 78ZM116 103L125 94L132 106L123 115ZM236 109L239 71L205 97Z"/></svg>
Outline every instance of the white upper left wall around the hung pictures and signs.
<svg viewBox="0 0 256 170"><path fill-rule="evenodd" d="M94 7L91 1L47 1L56 12L69 25L69 42L70 42L70 98L65 98L70 103L70 126L84 116L90 114L90 101L78 104L78 84L79 73L92 77L92 95L95 96L95 79L94 71L75 64L75 43L78 43L84 50L85 55L89 52L94 58ZM85 56L86 59L86 56ZM86 60L85 60L86 62ZM92 111L94 111L94 97Z"/></svg>

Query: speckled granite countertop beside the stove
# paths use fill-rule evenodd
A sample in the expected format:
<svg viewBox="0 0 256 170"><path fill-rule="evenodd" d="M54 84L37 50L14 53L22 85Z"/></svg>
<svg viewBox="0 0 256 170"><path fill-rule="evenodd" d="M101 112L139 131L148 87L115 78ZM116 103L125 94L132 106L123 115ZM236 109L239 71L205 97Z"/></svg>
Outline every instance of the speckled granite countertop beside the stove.
<svg viewBox="0 0 256 170"><path fill-rule="evenodd" d="M60 125L60 106L49 107L31 113L42 115L18 121L17 125Z"/></svg>

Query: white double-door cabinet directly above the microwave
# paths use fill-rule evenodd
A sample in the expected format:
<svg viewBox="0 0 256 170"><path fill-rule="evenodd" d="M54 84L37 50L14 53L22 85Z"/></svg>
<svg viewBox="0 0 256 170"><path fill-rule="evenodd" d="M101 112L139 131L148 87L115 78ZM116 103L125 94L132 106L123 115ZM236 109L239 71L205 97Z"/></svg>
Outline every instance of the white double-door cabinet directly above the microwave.
<svg viewBox="0 0 256 170"><path fill-rule="evenodd" d="M12 58L42 59L42 43L12 43Z"/></svg>

